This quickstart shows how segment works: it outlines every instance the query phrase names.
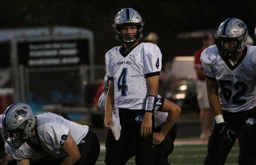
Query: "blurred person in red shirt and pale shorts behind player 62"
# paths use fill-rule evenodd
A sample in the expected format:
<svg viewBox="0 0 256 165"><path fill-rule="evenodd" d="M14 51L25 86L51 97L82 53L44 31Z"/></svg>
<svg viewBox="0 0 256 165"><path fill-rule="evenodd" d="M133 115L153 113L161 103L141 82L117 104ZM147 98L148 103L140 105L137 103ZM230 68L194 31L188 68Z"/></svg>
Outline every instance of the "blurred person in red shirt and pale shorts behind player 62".
<svg viewBox="0 0 256 165"><path fill-rule="evenodd" d="M212 34L207 34L203 37L203 46L194 53L195 57L195 69L197 75L197 102L200 109L200 125L201 134L200 139L208 139L212 131L213 117L210 111L210 105L207 99L207 90L205 83L205 74L203 71L202 63L200 61L201 53L210 45L215 44L215 39Z"/></svg>

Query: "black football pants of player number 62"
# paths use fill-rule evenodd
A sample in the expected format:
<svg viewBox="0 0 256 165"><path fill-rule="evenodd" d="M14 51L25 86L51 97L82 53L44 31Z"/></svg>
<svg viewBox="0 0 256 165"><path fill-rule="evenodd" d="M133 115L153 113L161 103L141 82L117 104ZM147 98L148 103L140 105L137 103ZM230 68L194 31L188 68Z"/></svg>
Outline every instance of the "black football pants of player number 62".
<svg viewBox="0 0 256 165"><path fill-rule="evenodd" d="M229 126L237 133L239 142L238 164L256 164L256 124L246 124L246 120L249 118L256 119L256 109L234 113L223 111L223 117ZM205 165L224 164L227 155L234 145L227 146L223 141L223 137L220 137L219 131L215 123L208 142L207 156L204 162ZM235 139L233 139L233 141L235 141Z"/></svg>

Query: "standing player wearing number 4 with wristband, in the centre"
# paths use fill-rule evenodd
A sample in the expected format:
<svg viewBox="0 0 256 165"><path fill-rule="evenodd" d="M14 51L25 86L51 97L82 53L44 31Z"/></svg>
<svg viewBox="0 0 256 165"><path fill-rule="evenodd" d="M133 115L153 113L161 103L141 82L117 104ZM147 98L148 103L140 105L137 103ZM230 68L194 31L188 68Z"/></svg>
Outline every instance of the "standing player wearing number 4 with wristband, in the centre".
<svg viewBox="0 0 256 165"><path fill-rule="evenodd" d="M132 8L124 8L114 18L116 39L122 46L116 46L105 55L109 76L106 96L106 128L112 126L113 107L119 109L122 126L117 141L108 131L106 137L107 164L124 164L128 146L136 149L137 164L152 164L152 130L154 129L154 107L158 94L158 80L162 67L160 49L151 43L140 43L144 22ZM136 123L137 116L144 116L142 123Z"/></svg>

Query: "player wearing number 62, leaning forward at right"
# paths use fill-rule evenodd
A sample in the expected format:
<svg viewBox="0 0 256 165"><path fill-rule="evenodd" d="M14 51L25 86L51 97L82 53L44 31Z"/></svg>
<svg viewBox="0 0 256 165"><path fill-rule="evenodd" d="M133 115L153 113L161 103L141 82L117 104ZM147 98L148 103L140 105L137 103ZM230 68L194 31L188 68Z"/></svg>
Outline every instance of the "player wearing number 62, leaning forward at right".
<svg viewBox="0 0 256 165"><path fill-rule="evenodd" d="M256 47L246 45L248 30L237 18L226 19L216 45L201 55L215 126L204 164L224 164L238 138L238 164L256 164Z"/></svg>

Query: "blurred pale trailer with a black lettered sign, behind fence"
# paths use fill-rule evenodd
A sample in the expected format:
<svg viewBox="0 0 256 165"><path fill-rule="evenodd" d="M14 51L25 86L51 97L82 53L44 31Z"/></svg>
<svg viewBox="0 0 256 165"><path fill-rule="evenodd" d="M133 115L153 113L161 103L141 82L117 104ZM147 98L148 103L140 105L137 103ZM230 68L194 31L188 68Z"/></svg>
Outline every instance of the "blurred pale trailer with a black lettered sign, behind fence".
<svg viewBox="0 0 256 165"><path fill-rule="evenodd" d="M96 81L91 30L77 27L0 30L0 48L5 51L0 53L0 70L10 73L13 102L35 107L60 102L83 104L86 85Z"/></svg>

